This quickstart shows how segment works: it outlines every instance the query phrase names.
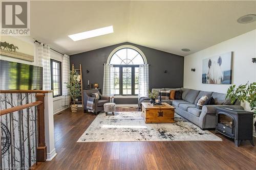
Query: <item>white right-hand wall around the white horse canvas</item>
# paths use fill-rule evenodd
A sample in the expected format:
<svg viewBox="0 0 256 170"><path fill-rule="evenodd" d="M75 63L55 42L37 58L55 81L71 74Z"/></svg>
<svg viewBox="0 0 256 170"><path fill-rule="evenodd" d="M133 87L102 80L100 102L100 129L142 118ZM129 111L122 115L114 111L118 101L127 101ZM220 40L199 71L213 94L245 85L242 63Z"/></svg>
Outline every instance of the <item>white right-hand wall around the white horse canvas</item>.
<svg viewBox="0 0 256 170"><path fill-rule="evenodd" d="M204 58L227 52L234 52L232 84L256 82L256 63L251 62L251 58L256 57L256 30L253 30L186 56L184 58L184 87L226 93L230 85L202 84L202 61ZM196 68L196 71L192 72L191 68ZM241 105L245 110L250 111L248 103Z"/></svg>

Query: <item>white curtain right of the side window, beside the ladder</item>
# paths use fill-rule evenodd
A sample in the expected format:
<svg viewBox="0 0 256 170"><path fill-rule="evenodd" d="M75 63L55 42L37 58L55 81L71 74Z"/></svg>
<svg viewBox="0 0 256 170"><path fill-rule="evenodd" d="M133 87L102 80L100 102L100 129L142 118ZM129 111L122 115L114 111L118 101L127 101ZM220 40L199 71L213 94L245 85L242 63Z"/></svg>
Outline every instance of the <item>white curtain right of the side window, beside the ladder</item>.
<svg viewBox="0 0 256 170"><path fill-rule="evenodd" d="M63 55L62 57L62 106L70 104L70 97L68 95L68 88L65 83L69 81L70 63L69 56Z"/></svg>

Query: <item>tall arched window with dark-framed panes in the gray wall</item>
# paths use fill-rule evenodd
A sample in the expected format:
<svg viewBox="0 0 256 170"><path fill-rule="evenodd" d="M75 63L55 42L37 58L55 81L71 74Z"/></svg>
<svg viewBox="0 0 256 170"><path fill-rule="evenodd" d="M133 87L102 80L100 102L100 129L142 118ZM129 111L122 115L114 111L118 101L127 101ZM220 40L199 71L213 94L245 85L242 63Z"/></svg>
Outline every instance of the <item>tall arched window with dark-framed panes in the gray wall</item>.
<svg viewBox="0 0 256 170"><path fill-rule="evenodd" d="M145 55L135 46L117 47L107 63L114 66L114 94L138 95L139 65L146 64Z"/></svg>

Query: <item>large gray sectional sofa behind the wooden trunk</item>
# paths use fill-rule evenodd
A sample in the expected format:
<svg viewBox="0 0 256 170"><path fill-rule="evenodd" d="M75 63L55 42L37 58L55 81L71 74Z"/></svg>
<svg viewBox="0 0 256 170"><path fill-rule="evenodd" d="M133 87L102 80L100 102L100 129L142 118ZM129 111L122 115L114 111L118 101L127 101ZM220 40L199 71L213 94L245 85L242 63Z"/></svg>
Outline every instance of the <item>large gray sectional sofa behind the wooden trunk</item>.
<svg viewBox="0 0 256 170"><path fill-rule="evenodd" d="M231 105L230 100L226 99L226 94L211 92L211 91L201 91L187 88L161 88L152 89L152 91L164 91L164 90L182 90L182 100L163 100L175 107L175 113L186 118L190 122L196 124L201 129L215 128L216 126L216 109L218 106L229 106L233 108L243 109L240 106L240 102L236 102ZM208 98L212 96L215 100L215 105L205 105L202 109L197 109L197 101L204 95ZM149 101L143 101L149 102Z"/></svg>

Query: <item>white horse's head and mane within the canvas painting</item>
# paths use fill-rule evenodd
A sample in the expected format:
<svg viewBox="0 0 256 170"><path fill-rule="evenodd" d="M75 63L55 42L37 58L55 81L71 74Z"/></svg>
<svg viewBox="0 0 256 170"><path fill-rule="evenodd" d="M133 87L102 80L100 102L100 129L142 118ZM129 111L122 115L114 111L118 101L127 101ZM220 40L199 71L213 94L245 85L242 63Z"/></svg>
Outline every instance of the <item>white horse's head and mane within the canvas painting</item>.
<svg viewBox="0 0 256 170"><path fill-rule="evenodd" d="M208 70L206 72L206 83L207 84L221 84L223 81L223 71L221 69L221 57L218 61L208 61Z"/></svg>

